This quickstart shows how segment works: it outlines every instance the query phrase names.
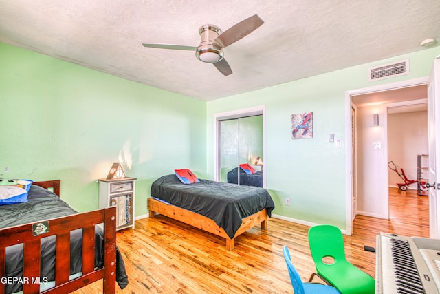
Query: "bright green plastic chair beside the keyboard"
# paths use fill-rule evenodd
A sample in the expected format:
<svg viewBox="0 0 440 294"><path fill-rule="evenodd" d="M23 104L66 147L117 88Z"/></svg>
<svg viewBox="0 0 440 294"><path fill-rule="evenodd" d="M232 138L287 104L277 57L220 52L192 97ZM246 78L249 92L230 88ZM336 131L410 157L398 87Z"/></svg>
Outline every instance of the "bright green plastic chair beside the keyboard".
<svg viewBox="0 0 440 294"><path fill-rule="evenodd" d="M309 282L318 275L342 294L374 294L373 277L347 261L344 238L338 227L327 224L311 227L309 246L317 271Z"/></svg>

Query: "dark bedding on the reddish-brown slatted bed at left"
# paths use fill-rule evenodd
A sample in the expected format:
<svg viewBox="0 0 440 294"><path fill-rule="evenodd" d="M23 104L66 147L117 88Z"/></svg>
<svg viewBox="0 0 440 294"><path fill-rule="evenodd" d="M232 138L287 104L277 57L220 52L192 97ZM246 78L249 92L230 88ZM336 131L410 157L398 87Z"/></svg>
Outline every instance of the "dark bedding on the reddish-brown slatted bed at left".
<svg viewBox="0 0 440 294"><path fill-rule="evenodd" d="M0 206L0 229L41 220L49 220L78 213L51 191L32 185L28 202ZM104 265L104 231L95 227L95 266ZM41 277L55 280L55 236L41 239ZM72 231L70 234L70 274L82 271L83 231ZM23 244L6 248L7 277L23 277ZM124 260L119 249L116 250L116 282L120 288L129 284ZM21 284L5 284L5 293L21 291Z"/></svg>

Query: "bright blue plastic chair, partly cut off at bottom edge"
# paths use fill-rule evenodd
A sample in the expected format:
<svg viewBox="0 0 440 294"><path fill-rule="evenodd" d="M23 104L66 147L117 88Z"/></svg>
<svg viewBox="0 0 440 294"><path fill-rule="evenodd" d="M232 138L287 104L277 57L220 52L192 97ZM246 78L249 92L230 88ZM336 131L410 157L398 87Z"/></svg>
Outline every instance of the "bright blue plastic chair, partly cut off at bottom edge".
<svg viewBox="0 0 440 294"><path fill-rule="evenodd" d="M289 249L287 246L283 246L284 260L287 264L287 270L289 271L290 282L294 288L295 294L340 294L336 288L323 284L303 283L301 277L296 271L294 264L290 258Z"/></svg>

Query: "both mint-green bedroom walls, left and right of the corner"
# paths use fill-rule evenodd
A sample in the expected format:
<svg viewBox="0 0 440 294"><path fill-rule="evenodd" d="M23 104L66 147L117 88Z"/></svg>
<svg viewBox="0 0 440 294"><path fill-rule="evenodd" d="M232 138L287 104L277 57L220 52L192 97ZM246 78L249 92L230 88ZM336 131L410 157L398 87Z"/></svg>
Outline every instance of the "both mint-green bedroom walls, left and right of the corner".
<svg viewBox="0 0 440 294"><path fill-rule="evenodd" d="M159 176L190 168L214 178L214 114L265 105L264 170L274 213L343 229L345 92L428 76L440 48L209 102L11 45L0 43L0 53L0 177L60 178L62 198L87 211L98 208L96 180L122 162L137 178L135 215L143 216ZM369 67L406 58L409 75L368 81ZM314 113L314 138L292 140L291 116L301 112ZM330 143L330 134L343 146Z"/></svg>

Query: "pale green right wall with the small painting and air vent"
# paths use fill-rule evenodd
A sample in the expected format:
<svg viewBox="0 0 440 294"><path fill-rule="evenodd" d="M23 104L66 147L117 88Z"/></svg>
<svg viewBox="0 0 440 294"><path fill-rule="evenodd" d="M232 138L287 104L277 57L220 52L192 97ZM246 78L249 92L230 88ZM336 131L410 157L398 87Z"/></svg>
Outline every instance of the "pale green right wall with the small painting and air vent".
<svg viewBox="0 0 440 294"><path fill-rule="evenodd" d="M214 114L265 105L267 189L274 214L310 223L346 227L345 93L363 87L428 76L440 48L430 48L320 74L263 90L207 103L207 172L214 174ZM369 68L410 59L410 74L369 82ZM292 65L294 66L294 65ZM292 140L292 114L313 112L314 138ZM349 119L349 118L348 118ZM330 134L342 139L342 147L329 142ZM291 198L291 205L285 205Z"/></svg>

